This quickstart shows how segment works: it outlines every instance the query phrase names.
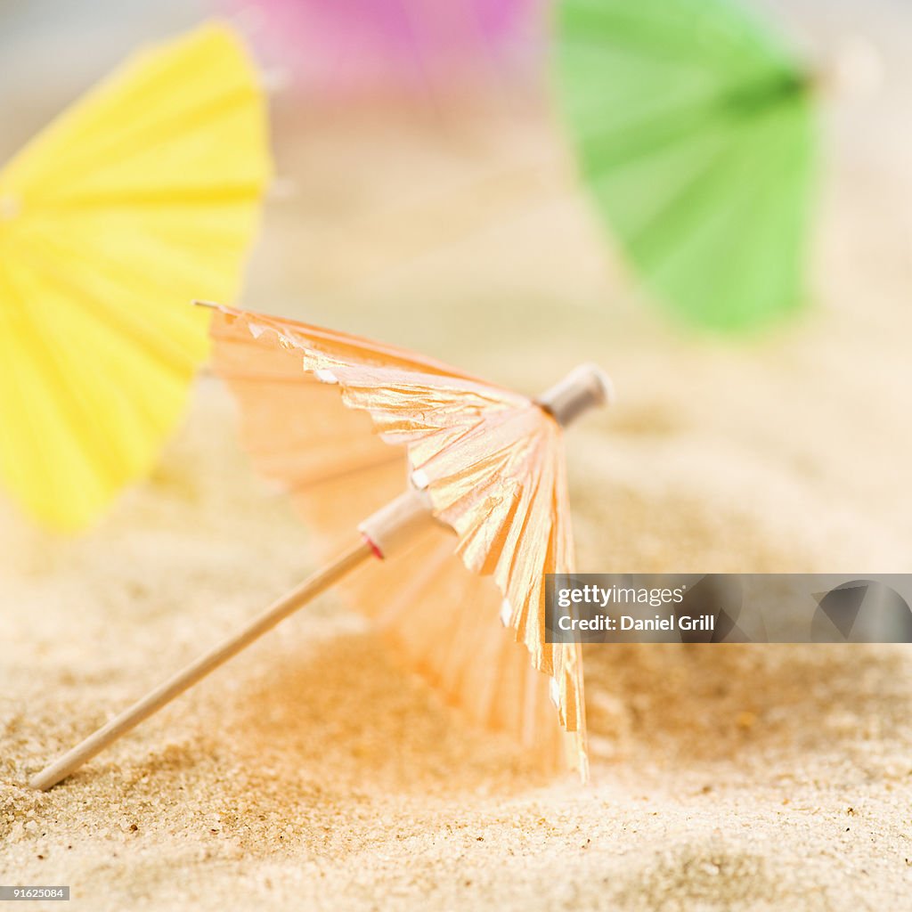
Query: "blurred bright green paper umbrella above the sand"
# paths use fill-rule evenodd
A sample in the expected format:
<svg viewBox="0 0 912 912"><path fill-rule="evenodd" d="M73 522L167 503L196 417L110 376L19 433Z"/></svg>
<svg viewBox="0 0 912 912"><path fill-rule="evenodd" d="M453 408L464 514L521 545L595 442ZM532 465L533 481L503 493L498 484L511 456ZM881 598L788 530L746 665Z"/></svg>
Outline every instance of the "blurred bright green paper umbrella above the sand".
<svg viewBox="0 0 912 912"><path fill-rule="evenodd" d="M660 302L740 330L805 299L814 79L735 0L562 0L560 94L598 209Z"/></svg>

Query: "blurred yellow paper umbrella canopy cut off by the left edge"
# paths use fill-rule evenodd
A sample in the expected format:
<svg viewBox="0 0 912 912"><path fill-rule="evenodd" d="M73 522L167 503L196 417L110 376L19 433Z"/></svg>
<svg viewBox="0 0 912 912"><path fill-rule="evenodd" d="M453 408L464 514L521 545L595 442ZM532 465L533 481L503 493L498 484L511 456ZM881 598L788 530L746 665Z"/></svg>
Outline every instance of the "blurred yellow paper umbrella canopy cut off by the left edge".
<svg viewBox="0 0 912 912"><path fill-rule="evenodd" d="M226 26L131 57L0 171L0 479L78 530L150 472L231 300L270 176Z"/></svg>

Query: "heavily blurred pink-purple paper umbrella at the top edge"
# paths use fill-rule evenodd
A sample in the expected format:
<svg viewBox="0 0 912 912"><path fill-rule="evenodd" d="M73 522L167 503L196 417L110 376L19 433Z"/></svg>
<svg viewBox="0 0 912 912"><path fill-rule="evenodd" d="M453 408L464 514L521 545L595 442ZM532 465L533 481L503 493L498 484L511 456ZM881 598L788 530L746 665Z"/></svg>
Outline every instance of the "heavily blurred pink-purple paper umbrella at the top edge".
<svg viewBox="0 0 912 912"><path fill-rule="evenodd" d="M266 35L306 86L440 88L509 67L541 0L257 0Z"/></svg>

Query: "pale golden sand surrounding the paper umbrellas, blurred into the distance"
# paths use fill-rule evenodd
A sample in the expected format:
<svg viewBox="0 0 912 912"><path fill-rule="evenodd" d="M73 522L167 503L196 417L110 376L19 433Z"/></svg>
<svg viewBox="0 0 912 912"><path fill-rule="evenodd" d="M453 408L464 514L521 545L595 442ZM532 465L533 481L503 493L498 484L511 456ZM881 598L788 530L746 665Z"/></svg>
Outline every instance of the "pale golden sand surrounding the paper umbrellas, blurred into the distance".
<svg viewBox="0 0 912 912"><path fill-rule="evenodd" d="M198 15L118 7L0 3L0 159ZM815 54L864 34L886 64L879 95L826 111L800 321L723 345L637 303L528 84L431 109L278 98L297 192L244 303L530 392L604 365L617 408L569 441L582 570L912 572L912 9L773 8ZM99 912L912 908L903 647L593 648L583 788L462 728L329 596L62 787L24 787L311 569L308 534L210 378L92 534L0 504L0 883Z"/></svg>

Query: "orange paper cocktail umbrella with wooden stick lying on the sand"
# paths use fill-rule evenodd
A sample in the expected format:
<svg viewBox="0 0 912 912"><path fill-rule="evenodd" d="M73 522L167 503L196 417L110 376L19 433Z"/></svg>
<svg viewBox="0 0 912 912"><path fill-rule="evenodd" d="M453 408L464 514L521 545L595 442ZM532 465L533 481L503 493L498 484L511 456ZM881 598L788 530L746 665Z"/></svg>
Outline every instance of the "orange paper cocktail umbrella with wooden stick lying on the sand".
<svg viewBox="0 0 912 912"><path fill-rule="evenodd" d="M574 569L562 428L606 402L604 375L577 368L529 399L407 351L226 307L212 338L258 468L285 482L327 543L343 530L348 543L32 785L59 782L343 578L473 721L543 759L563 753L586 776L580 648L545 641L544 584Z"/></svg>

